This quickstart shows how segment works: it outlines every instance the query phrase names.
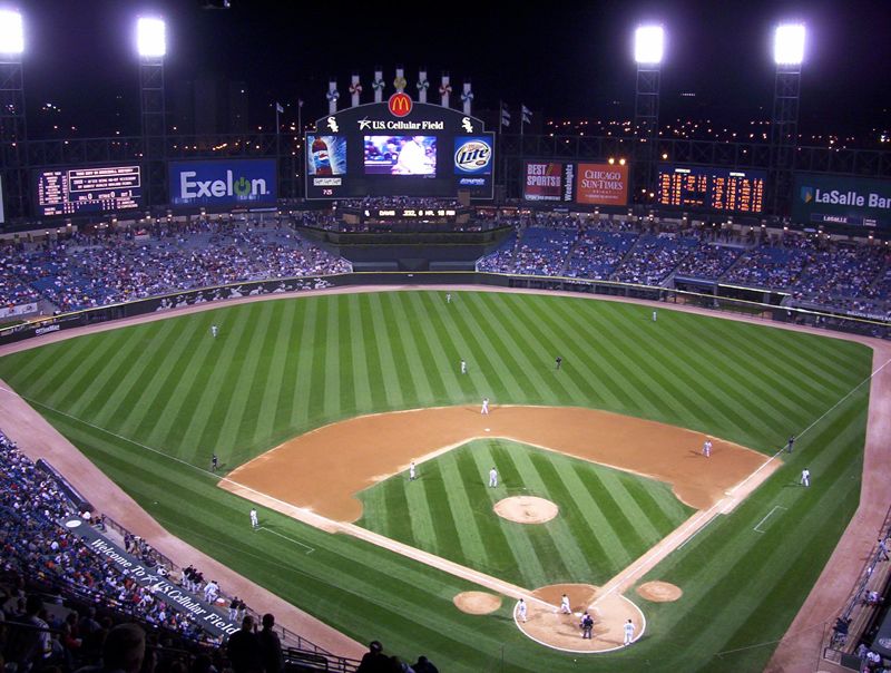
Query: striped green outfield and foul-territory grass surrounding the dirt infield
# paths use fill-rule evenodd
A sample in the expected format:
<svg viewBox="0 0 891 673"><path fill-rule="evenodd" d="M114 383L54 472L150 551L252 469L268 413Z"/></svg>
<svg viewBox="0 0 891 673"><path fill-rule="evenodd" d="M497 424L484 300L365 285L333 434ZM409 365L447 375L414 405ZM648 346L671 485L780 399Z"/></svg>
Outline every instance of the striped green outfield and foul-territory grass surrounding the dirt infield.
<svg viewBox="0 0 891 673"><path fill-rule="evenodd" d="M869 400L856 387L871 351L665 309L653 323L650 312L474 292L452 292L448 305L432 291L285 299L49 344L3 358L0 377L174 534L356 640L449 672L581 664L520 635L509 605L461 614L452 597L473 587L443 573L266 510L270 530L252 533L249 505L206 471L212 451L229 469L336 419L483 396L607 409L764 453L795 432L787 465L647 577L677 584L682 599L633 594L645 637L585 661L590 671L760 671L855 508ZM810 489L796 486L805 466ZM753 530L777 505L764 533Z"/></svg>

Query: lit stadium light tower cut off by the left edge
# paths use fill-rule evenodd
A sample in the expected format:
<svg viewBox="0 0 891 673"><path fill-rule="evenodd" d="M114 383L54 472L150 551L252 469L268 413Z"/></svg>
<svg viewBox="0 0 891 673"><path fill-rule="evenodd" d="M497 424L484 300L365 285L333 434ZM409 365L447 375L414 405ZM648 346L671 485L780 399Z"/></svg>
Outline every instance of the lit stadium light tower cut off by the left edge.
<svg viewBox="0 0 891 673"><path fill-rule="evenodd" d="M20 12L0 9L0 168L6 214L28 214L28 126L25 120L25 25Z"/></svg>

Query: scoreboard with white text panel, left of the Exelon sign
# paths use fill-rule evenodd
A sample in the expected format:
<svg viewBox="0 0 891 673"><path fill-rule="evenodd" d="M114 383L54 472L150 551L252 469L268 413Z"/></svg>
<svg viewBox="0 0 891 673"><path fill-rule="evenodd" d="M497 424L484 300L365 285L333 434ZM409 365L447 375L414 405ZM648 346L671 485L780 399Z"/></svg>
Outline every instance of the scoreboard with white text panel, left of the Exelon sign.
<svg viewBox="0 0 891 673"><path fill-rule="evenodd" d="M137 166L91 166L36 174L37 215L81 215L139 208L143 179Z"/></svg>

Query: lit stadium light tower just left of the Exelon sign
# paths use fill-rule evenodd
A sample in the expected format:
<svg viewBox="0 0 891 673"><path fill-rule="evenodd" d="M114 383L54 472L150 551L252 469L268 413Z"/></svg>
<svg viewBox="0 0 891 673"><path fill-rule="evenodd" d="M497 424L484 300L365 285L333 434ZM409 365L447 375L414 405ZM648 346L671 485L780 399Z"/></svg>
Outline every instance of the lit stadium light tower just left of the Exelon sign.
<svg viewBox="0 0 891 673"><path fill-rule="evenodd" d="M139 109L143 117L143 169L149 207L167 202L167 115L164 104L164 58L167 56L167 25L157 17L136 21L139 55Z"/></svg>

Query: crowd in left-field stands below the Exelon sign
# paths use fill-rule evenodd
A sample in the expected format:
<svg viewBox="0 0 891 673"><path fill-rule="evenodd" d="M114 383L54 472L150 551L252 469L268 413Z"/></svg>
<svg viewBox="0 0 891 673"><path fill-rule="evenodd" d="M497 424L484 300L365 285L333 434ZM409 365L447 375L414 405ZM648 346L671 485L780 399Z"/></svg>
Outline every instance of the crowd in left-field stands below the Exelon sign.
<svg viewBox="0 0 891 673"><path fill-rule="evenodd" d="M281 224L198 221L75 234L0 248L3 286L29 285L60 311L226 283L327 275L349 263ZM0 296L0 304L12 301Z"/></svg>

